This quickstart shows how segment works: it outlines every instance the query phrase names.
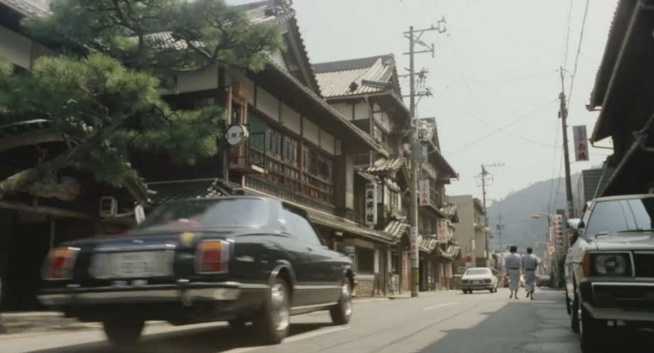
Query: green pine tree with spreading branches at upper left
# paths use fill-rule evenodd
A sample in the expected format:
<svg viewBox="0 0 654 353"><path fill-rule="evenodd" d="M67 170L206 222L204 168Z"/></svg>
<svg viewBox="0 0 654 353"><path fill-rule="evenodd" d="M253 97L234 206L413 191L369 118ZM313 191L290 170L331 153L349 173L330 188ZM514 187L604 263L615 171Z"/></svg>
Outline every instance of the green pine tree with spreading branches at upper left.
<svg viewBox="0 0 654 353"><path fill-rule="evenodd" d="M215 155L224 112L173 110L161 98L170 77L215 65L256 72L283 50L276 27L222 0L54 0L23 26L62 55L20 73L0 60L0 125L45 118L80 143L1 180L0 198L69 167L121 185L136 176L131 150L190 164Z"/></svg>

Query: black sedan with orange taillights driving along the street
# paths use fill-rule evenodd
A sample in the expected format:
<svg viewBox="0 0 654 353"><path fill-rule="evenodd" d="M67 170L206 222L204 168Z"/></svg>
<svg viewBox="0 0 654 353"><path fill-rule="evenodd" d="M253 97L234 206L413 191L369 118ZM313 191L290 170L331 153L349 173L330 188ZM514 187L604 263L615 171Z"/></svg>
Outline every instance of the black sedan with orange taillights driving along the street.
<svg viewBox="0 0 654 353"><path fill-rule="evenodd" d="M323 245L305 211L245 196L168 203L123 237L62 245L43 277L45 305L101 322L122 347L146 320L253 322L278 343L290 315L329 310L348 323L355 284L351 259Z"/></svg>

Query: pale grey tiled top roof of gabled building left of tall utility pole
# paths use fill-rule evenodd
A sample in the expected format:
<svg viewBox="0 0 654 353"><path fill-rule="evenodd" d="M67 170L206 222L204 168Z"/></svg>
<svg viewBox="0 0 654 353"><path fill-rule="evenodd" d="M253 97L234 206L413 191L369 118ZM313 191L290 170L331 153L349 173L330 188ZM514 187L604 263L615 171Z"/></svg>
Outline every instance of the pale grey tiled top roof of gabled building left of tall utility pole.
<svg viewBox="0 0 654 353"><path fill-rule="evenodd" d="M322 96L334 98L393 90L393 55L313 65Z"/></svg>

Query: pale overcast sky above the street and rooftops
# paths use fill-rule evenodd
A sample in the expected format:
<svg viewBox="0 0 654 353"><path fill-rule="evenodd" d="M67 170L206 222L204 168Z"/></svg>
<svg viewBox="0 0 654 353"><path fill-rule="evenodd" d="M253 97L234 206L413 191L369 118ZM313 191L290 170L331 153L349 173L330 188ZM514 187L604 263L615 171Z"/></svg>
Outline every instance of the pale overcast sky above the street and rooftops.
<svg viewBox="0 0 654 353"><path fill-rule="evenodd" d="M251 1L228 1L247 2ZM436 118L442 153L459 173L459 180L447 186L448 195L481 197L477 178L481 164L503 164L488 167L492 181L486 197L491 203L537 181L565 175L558 118L560 67L569 99L572 172L598 166L611 154L610 149L591 147L589 162L574 162L570 127L586 125L588 135L592 133L597 113L585 105L616 4L617 0L294 0L293 8L310 62L392 53L399 74L406 74L409 66L404 55L409 43L403 33L409 26L430 28L445 17L445 33L430 31L421 38L435 44L435 57L415 57L416 69L429 72L423 87L433 93L420 100L417 115ZM400 84L403 93L408 92L408 79ZM596 146L611 147L611 142Z"/></svg>

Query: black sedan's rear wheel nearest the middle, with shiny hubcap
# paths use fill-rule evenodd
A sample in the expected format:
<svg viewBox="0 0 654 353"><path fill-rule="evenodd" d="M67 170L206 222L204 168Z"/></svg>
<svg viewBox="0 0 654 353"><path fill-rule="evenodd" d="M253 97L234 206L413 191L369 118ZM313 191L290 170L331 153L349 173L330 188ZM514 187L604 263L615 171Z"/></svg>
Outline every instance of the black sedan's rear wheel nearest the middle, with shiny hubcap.
<svg viewBox="0 0 654 353"><path fill-rule="evenodd" d="M278 344L288 336L290 328L290 296L288 284L276 279L254 325L266 344Z"/></svg>

